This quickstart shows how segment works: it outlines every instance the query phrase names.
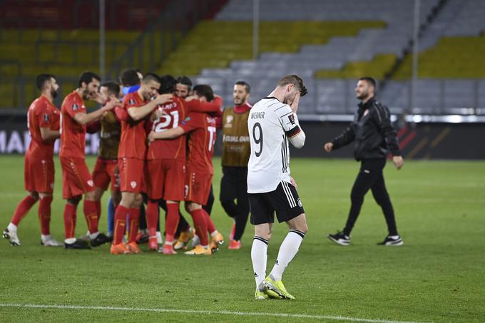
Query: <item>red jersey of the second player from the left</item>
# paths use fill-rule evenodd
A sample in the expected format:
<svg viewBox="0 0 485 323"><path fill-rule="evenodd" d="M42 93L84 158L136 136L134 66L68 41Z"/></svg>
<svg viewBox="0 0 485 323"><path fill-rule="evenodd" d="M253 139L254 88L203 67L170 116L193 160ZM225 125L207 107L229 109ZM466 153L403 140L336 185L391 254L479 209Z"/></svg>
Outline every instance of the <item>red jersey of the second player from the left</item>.
<svg viewBox="0 0 485 323"><path fill-rule="evenodd" d="M86 125L74 120L77 113L86 113L86 106L83 98L73 91L64 98L61 106L61 157L84 158L86 155Z"/></svg>

